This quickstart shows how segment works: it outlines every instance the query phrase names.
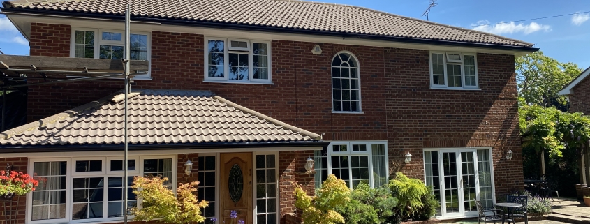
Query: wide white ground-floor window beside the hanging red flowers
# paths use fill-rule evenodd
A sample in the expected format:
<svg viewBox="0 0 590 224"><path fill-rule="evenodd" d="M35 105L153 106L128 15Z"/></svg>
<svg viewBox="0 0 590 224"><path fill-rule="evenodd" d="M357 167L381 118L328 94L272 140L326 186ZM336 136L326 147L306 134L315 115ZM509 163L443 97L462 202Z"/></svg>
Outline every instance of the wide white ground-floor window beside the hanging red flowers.
<svg viewBox="0 0 590 224"><path fill-rule="evenodd" d="M176 186L176 156L128 158L128 186L123 186L122 157L31 158L29 173L40 181L27 195L27 223L121 221L124 191L128 207L137 207L134 176L168 177Z"/></svg>

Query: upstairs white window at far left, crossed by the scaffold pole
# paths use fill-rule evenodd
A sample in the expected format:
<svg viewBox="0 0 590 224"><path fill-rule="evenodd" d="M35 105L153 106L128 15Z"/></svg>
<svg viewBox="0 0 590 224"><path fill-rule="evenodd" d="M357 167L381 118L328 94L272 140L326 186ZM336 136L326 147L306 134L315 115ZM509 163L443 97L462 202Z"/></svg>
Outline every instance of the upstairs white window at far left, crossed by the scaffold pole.
<svg viewBox="0 0 590 224"><path fill-rule="evenodd" d="M70 57L87 59L123 59L125 55L125 31L111 29L72 28ZM132 31L130 36L131 60L150 60L149 33ZM137 79L149 79L136 75Z"/></svg>

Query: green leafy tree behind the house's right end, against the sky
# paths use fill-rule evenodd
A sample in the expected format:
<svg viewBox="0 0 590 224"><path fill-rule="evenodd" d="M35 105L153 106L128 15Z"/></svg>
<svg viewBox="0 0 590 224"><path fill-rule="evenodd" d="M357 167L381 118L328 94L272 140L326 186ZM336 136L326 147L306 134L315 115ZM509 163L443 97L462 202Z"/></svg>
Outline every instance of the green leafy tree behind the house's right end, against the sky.
<svg viewBox="0 0 590 224"><path fill-rule="evenodd" d="M538 51L515 59L519 96L526 103L555 106L566 111L566 96L558 92L570 83L582 68L571 62L560 63Z"/></svg>

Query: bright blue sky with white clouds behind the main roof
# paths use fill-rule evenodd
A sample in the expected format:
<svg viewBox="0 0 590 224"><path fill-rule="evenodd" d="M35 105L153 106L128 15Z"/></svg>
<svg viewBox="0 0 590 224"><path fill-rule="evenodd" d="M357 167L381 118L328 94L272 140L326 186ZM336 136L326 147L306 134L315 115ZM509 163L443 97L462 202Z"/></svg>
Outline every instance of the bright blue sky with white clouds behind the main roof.
<svg viewBox="0 0 590 224"><path fill-rule="evenodd" d="M426 20L422 13L429 0L321 0L361 6ZM534 43L543 53L560 62L590 67L589 0L438 0L429 20L456 27L495 33ZM584 13L587 12L587 13ZM575 15L567 15L578 13ZM555 15L566 15L552 17ZM541 17L546 19L530 20ZM512 22L527 20L522 22ZM503 24L496 24L505 22ZM0 50L6 54L29 54L27 40L0 15Z"/></svg>

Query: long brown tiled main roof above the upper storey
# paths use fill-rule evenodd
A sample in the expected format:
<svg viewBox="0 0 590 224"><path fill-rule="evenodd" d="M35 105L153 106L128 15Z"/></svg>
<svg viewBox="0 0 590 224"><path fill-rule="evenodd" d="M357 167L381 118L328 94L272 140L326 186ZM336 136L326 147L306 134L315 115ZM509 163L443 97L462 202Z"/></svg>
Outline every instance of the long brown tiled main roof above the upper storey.
<svg viewBox="0 0 590 224"><path fill-rule="evenodd" d="M126 1L21 0L8 8L122 15ZM129 0L133 16L371 36L532 47L491 33L451 27L368 8L284 0Z"/></svg>

